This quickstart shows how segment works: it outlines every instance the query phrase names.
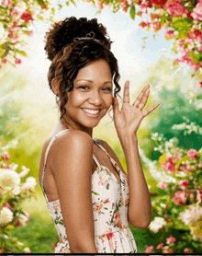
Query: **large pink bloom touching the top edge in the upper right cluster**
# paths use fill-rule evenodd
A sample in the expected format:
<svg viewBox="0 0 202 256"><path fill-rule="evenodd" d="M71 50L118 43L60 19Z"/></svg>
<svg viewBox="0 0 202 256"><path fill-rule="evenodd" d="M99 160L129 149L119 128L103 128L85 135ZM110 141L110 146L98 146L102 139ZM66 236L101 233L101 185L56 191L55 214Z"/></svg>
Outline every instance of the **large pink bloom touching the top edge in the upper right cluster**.
<svg viewBox="0 0 202 256"><path fill-rule="evenodd" d="M174 16L174 17L185 17L185 7L181 5L181 0L174 0L174 1L169 1L165 3L165 8L168 11L168 14Z"/></svg>

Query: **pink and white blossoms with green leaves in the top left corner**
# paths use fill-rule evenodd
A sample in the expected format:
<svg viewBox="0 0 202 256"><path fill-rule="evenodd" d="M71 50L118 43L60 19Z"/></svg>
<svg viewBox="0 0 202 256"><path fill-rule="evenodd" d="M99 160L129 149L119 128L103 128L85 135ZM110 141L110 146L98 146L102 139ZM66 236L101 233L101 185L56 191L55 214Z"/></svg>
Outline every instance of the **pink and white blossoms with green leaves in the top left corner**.
<svg viewBox="0 0 202 256"><path fill-rule="evenodd" d="M2 0L0 6L0 68L21 64L25 39L33 35L31 25L49 9L48 1Z"/></svg>

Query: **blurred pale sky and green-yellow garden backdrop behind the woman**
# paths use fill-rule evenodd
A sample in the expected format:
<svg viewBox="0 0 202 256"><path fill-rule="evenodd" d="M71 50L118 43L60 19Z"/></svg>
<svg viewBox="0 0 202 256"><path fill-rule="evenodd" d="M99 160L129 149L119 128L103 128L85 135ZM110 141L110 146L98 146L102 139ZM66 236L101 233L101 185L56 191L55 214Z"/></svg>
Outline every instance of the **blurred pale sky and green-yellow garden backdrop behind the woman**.
<svg viewBox="0 0 202 256"><path fill-rule="evenodd" d="M57 5L53 1L50 3ZM140 28L140 17L133 20L122 11L113 13L110 7L105 7L99 14L89 3L80 1L76 2L76 6L64 6L55 15L55 20L71 16L96 17L107 27L109 37L114 41L112 52L119 64L121 98L124 83L129 80L130 104L147 84L151 85L151 94L146 109L155 102L161 103L161 106L140 124L139 145L146 157L155 160L160 156L153 151L151 133L164 134L167 139L177 135L181 146L199 149L200 135L190 134L185 137L182 132L172 130L174 124L184 122L185 118L199 125L202 121L201 111L194 103L190 103L187 97L190 85L194 88L196 81L185 66L173 65L176 57L171 53L173 41L164 39L163 30L154 38L152 31L146 32ZM25 242L32 252L45 253L52 252L53 246L59 240L39 186L39 160L44 141L59 120L59 110L48 85L50 61L47 60L44 51L44 36L50 28L50 22L35 20L32 26L34 35L27 39L25 46L28 58L22 57L22 64L7 64L1 69L0 138L4 144L10 139L19 138L19 145L9 150L10 162L15 159L19 166L28 167L29 175L37 180L36 198L25 203L31 220L26 227L14 229L13 235ZM120 99L118 101L121 105ZM112 111L110 115L112 116ZM116 129L108 115L95 127L93 136L107 141L127 171ZM148 184L155 187L156 181L153 180L150 171L143 162L142 166ZM140 252L145 250L146 244L151 244L152 239L155 239L147 230L131 226L130 228Z"/></svg>

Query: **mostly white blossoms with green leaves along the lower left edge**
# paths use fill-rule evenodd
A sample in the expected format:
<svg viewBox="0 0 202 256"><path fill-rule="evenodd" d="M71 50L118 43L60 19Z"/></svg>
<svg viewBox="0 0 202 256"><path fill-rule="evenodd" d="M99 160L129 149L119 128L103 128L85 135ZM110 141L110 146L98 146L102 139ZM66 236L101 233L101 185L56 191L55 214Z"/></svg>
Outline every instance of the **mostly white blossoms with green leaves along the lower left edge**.
<svg viewBox="0 0 202 256"><path fill-rule="evenodd" d="M18 173L18 165L15 162L7 163L11 157L6 149L12 145L17 145L17 143L7 145L3 146L3 142L0 141L0 239L2 241L0 252L11 252L15 249L29 253L31 250L29 248L23 249L24 244L18 240L15 241L15 244L12 243L14 248L10 248L12 238L9 229L27 225L31 216L22 209L21 204L34 194L37 182L33 177L28 177L24 183L21 182L21 178L25 177L30 169L22 166Z"/></svg>

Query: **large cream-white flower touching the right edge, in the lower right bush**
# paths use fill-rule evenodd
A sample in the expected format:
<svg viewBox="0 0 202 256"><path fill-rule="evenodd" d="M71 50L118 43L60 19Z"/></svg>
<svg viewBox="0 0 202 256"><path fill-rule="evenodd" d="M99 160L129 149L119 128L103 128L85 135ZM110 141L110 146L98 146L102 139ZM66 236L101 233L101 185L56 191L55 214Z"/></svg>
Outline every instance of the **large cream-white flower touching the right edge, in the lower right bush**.
<svg viewBox="0 0 202 256"><path fill-rule="evenodd" d="M189 208L179 215L179 218L182 219L185 225L189 225L198 220L200 216L202 216L202 207L190 205Z"/></svg>

